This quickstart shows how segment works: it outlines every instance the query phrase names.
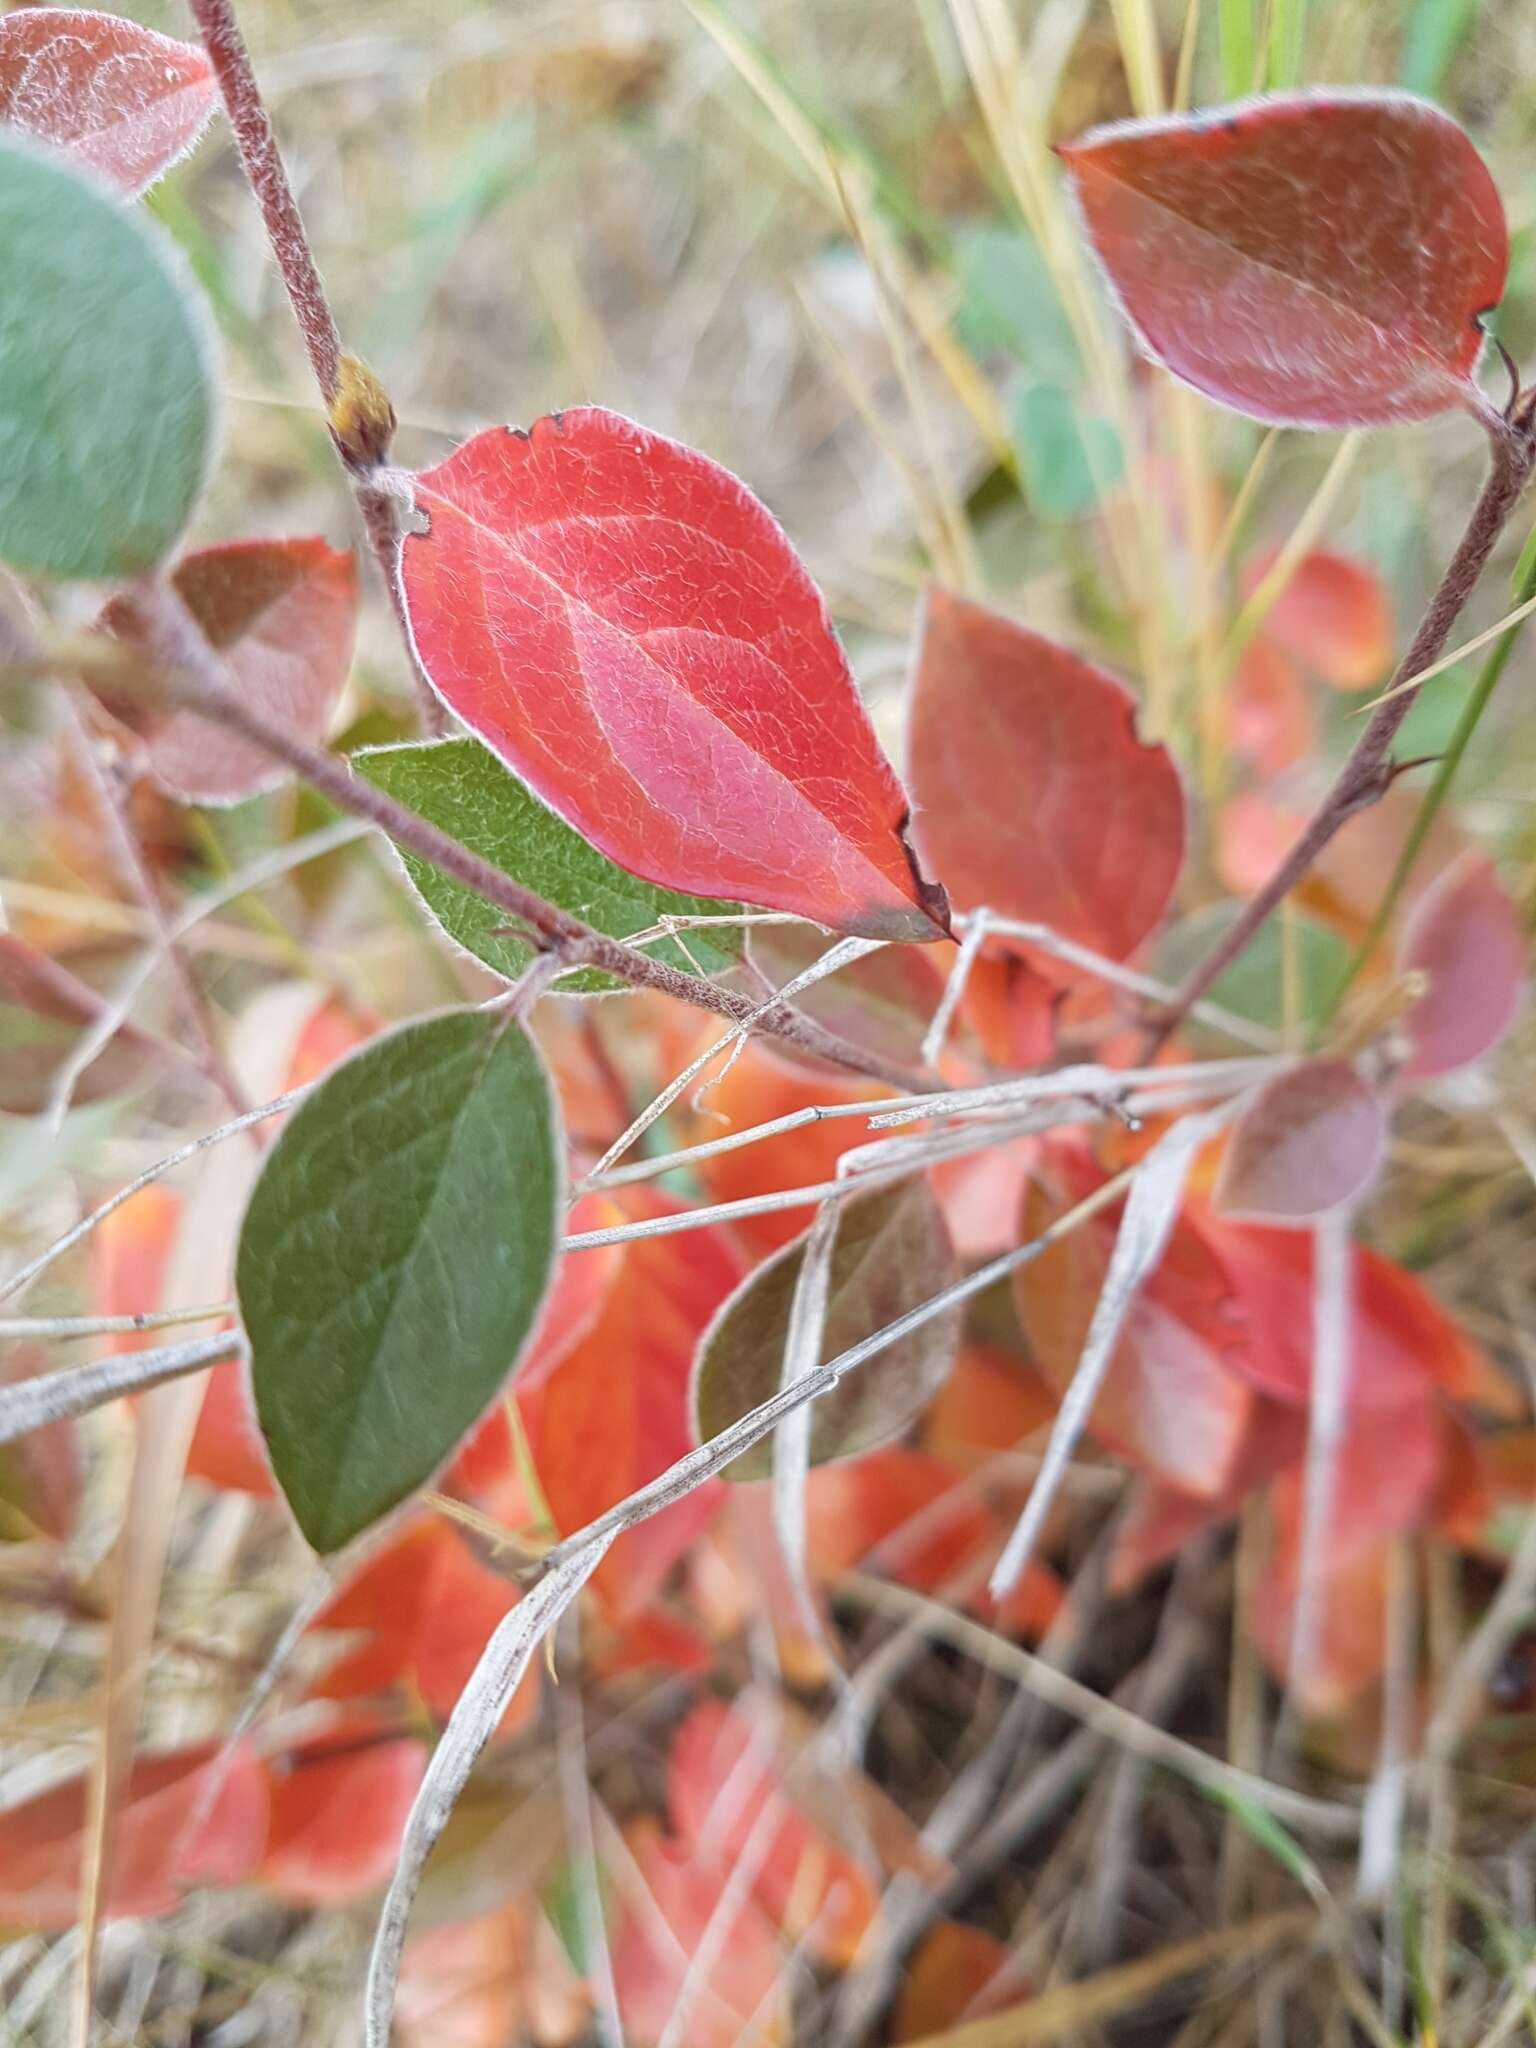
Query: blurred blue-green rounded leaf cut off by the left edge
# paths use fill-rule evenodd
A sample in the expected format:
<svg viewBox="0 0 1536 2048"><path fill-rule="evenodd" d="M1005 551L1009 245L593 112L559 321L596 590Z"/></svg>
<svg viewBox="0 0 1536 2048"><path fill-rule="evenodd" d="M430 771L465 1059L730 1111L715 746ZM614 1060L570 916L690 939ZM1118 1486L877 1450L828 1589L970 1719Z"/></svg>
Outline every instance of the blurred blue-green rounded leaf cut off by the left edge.
<svg viewBox="0 0 1536 2048"><path fill-rule="evenodd" d="M0 559L152 569L213 442L211 336L180 256L94 178L0 137Z"/></svg>

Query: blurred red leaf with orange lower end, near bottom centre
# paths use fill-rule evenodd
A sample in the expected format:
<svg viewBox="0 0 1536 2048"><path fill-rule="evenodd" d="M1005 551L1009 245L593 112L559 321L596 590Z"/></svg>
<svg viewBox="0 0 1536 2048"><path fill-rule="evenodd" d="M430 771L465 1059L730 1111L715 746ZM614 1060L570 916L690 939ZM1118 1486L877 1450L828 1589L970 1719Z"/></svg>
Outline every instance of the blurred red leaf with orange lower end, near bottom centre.
<svg viewBox="0 0 1536 2048"><path fill-rule="evenodd" d="M868 1872L827 1841L780 1782L772 1739L739 1708L700 1700L672 1743L668 1812L700 1858L758 1866L752 1896L793 1942L848 1968L874 1919Z"/></svg>

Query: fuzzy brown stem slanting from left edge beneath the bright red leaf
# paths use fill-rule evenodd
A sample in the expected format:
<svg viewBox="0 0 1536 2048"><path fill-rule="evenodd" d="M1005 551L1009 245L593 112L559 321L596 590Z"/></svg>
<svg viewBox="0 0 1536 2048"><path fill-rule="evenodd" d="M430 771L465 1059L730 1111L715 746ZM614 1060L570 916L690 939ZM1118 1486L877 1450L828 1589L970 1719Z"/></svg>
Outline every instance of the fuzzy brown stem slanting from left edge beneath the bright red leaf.
<svg viewBox="0 0 1536 2048"><path fill-rule="evenodd" d="M850 1067L854 1073L885 1081L903 1094L922 1094L936 1085L930 1077L913 1073L909 1067L848 1044L846 1038L838 1038L797 1010L780 1008L760 1014L760 1006L748 995L717 987L698 975L684 975L664 961L653 961L649 954L639 952L635 946L625 946L604 932L594 932L580 918L571 918L569 911L547 903L532 889L524 889L504 868L492 866L489 860L481 860L479 854L461 846L459 840L451 840L444 831L438 831L436 825L428 823L416 811L408 811L393 797L385 797L381 788L362 782L334 754L311 748L305 739L268 723L260 711L254 711L233 690L223 672L223 662L209 647L197 621L168 582L143 578L131 586L129 602L137 612L145 645L154 651L162 668L162 680L178 702L205 719L227 725L229 731L254 741L274 760L287 762L295 774L330 797L342 811L367 817L369 823L385 831L395 844L408 846L422 860L430 860L451 881L461 883L506 911L528 932L532 944L541 950L602 969L621 981L629 981L633 987L655 989L662 995L692 1004L696 1010L711 1010L733 1024L752 1022L754 1030L782 1038L799 1047L801 1053Z"/></svg>

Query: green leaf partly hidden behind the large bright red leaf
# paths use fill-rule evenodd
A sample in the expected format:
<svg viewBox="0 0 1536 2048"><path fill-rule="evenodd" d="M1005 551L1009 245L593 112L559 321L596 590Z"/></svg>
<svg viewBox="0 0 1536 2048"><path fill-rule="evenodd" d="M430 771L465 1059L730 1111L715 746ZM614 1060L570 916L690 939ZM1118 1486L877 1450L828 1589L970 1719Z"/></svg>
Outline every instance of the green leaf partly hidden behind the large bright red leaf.
<svg viewBox="0 0 1536 2048"><path fill-rule="evenodd" d="M352 766L395 803L608 938L649 932L664 915L723 918L739 909L737 903L678 895L627 874L539 803L479 739L365 748L352 756ZM516 981L530 948L518 938L498 936L504 934L506 911L449 881L403 846L399 858L449 938L494 973ZM682 940L659 940L647 952L690 975L719 975L741 958L741 932L729 926L688 932ZM588 969L567 975L559 987L563 995L596 995L623 983Z"/></svg>

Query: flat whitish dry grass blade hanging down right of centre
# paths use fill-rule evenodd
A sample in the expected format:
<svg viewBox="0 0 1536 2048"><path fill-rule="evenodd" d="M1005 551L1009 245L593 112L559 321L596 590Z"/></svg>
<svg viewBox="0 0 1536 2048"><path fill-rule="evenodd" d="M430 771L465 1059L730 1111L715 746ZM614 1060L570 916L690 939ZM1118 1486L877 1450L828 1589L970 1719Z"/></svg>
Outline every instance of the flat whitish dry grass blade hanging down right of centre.
<svg viewBox="0 0 1536 2048"><path fill-rule="evenodd" d="M1223 1104L1223 1108L1210 1110L1204 1116L1186 1116L1153 1145L1137 1167L1124 1217L1114 1237L1114 1251L1104 1274L1104 1288L1100 1290L1094 1321L1087 1325L1087 1337L1083 1339L1083 1356L1077 1360L1071 1386L1057 1413L1030 1497L991 1575L989 1591L993 1599L1004 1599L1014 1589L1034 1554L1044 1518L1071 1464L1071 1454L1087 1425L1087 1417L1094 1413L1094 1401L1104 1386L1124 1319L1143 1282L1161 1260L1178 1223L1184 1182L1190 1176L1194 1155L1221 1130L1233 1108L1235 1104Z"/></svg>

